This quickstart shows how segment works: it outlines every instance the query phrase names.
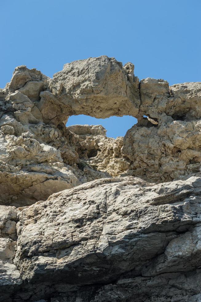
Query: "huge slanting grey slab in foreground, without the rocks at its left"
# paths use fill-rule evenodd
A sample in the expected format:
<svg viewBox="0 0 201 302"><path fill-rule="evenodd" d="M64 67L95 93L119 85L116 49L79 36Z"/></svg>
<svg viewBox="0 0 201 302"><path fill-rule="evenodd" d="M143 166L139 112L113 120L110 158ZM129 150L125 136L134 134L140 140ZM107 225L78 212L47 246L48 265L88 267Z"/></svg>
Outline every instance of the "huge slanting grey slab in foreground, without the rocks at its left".
<svg viewBox="0 0 201 302"><path fill-rule="evenodd" d="M65 267L67 283L108 282L130 270L155 275L149 259L154 265L152 259L164 252L169 259L177 248L175 238L181 241L183 232L188 238L188 230L200 223L200 193L200 178L155 186L136 178L103 178L53 194L22 210L15 263L23 267L25 280L44 280L45 271L51 280L57 270L59 282ZM196 245L199 227L193 237ZM196 255L200 248L197 244L195 249L192 240L183 240L188 252L174 253L182 263L191 255L186 268L177 262L179 271L189 271L200 261L192 256L192 250ZM175 261L170 261L162 272L174 271Z"/></svg>

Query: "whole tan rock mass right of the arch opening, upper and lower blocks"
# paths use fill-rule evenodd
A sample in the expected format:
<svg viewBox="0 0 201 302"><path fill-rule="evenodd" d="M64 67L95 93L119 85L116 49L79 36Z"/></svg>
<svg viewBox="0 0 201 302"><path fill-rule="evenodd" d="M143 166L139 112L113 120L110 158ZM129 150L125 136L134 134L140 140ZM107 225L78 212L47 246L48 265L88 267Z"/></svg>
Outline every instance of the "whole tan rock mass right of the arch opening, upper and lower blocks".
<svg viewBox="0 0 201 302"><path fill-rule="evenodd" d="M200 175L201 83L140 81L141 116L124 138L132 175L164 182Z"/></svg>

